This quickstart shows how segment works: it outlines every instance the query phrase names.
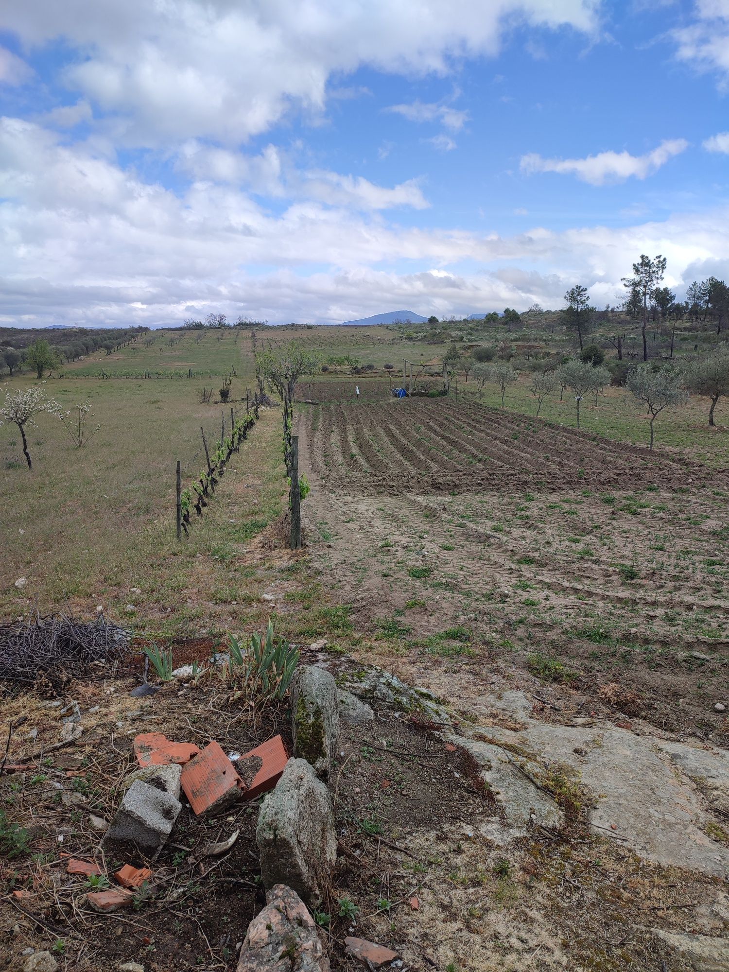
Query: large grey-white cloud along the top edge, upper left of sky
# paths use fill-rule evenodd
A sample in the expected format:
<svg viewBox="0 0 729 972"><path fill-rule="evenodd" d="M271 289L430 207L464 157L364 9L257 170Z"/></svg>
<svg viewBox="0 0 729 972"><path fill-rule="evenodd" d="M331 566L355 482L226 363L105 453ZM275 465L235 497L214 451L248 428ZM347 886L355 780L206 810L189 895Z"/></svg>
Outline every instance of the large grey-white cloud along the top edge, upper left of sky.
<svg viewBox="0 0 729 972"><path fill-rule="evenodd" d="M237 144L292 107L322 111L330 77L363 65L446 74L462 57L498 52L519 24L593 33L597 0L34 0L3 9L4 29L26 46L63 38L82 51L66 84L117 117L118 139L152 147Z"/></svg>

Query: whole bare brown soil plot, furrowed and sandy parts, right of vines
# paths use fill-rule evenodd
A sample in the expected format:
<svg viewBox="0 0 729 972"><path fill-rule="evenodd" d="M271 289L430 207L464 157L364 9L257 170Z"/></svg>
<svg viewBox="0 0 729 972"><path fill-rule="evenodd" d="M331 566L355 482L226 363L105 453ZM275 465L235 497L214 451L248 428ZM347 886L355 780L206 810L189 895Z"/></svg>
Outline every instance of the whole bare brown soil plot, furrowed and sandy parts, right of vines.
<svg viewBox="0 0 729 972"><path fill-rule="evenodd" d="M441 408L431 401L406 407L404 421ZM461 406L448 408L437 421L446 425L452 414L450 428ZM507 479L474 492L476 474L462 470L469 491L459 482L455 496L424 494L416 489L433 485L434 472L416 469L432 462L418 442L423 426L408 433L393 414L332 406L318 420L313 409L302 419L311 549L358 628L374 639L371 657L406 661L420 684L456 707L471 693L459 698L450 690L454 671L527 683L537 676L557 694L578 692L582 705L618 723L642 717L729 745L729 722L713 708L729 703L727 493L715 478L672 457L497 413L501 440L515 423L534 427L530 447L542 471L538 442L567 440L552 485L525 467L518 489ZM389 452L370 455L370 439L388 436ZM332 453L340 457L336 470ZM447 461L455 466L459 455L463 462L455 452ZM396 462L410 464L398 492L371 495L382 469ZM570 479L570 488L553 485ZM608 481L610 492L602 492ZM613 683L633 695L610 694L604 686Z"/></svg>

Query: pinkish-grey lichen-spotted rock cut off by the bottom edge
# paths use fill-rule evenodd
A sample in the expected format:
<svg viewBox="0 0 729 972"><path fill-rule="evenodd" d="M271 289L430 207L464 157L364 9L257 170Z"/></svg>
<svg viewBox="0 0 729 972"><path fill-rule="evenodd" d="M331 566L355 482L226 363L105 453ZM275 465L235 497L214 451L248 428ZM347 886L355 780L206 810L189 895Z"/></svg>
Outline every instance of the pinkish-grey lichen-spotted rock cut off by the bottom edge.
<svg viewBox="0 0 729 972"><path fill-rule="evenodd" d="M274 885L266 902L248 926L237 972L330 972L314 920L296 892Z"/></svg>

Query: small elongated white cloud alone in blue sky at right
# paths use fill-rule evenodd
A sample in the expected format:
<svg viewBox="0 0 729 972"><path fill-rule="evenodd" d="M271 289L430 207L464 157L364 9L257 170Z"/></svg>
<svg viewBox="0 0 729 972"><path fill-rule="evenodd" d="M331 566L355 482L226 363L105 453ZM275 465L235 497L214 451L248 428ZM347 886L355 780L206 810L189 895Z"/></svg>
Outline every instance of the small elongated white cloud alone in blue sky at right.
<svg viewBox="0 0 729 972"><path fill-rule="evenodd" d="M592 186L624 182L635 177L645 179L652 175L673 156L688 148L683 138L667 139L644 156L631 156L629 152L601 152L586 158L542 158L537 153L522 156L519 167L522 172L558 172L574 175Z"/></svg>

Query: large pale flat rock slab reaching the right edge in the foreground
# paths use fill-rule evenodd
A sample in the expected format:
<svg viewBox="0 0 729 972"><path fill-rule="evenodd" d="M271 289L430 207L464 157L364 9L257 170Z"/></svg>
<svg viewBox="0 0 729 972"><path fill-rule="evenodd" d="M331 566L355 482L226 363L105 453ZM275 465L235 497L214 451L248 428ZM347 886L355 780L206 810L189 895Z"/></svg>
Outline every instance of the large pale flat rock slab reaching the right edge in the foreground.
<svg viewBox="0 0 729 972"><path fill-rule="evenodd" d="M711 789L712 799L718 803L721 794L726 796L729 791L729 753L668 744L607 722L590 727L549 725L527 717L519 699L512 701L518 703L512 712L524 728L489 726L481 734L496 749L508 746L509 755L526 766L572 767L595 798L590 822L597 834L619 840L658 864L719 877L729 873L729 849L707 833L707 827L711 830L716 821L690 779L692 774L694 779L703 777L707 782L702 785ZM461 745L470 750L475 741L462 741ZM497 772L501 772L498 767ZM507 819L523 819L525 803L530 802L523 786L504 784L502 798ZM538 801L537 796L532 799Z"/></svg>

